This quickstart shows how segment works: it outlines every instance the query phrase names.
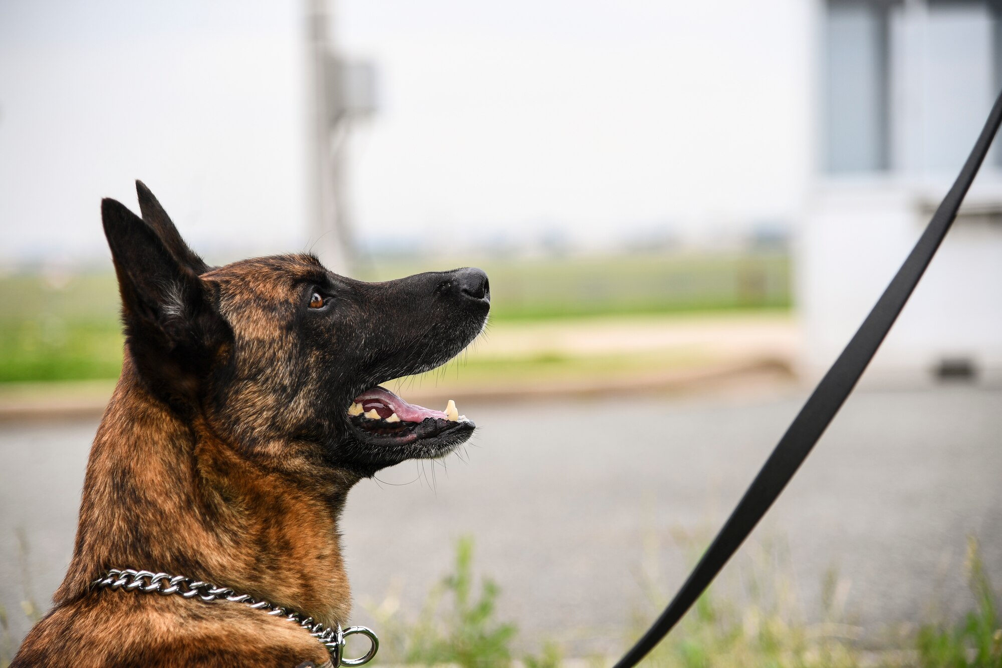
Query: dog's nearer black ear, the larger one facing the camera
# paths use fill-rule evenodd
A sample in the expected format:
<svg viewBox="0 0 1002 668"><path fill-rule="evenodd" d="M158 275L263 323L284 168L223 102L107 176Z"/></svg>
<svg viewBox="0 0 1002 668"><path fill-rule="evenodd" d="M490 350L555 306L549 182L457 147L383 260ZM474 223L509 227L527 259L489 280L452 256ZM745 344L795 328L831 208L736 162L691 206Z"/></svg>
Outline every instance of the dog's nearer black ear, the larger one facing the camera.
<svg viewBox="0 0 1002 668"><path fill-rule="evenodd" d="M175 240L187 247L172 225L173 235L164 240L158 230L114 200L101 202L101 219L137 370L164 398L193 398L229 337L213 286L175 257L171 249Z"/></svg>

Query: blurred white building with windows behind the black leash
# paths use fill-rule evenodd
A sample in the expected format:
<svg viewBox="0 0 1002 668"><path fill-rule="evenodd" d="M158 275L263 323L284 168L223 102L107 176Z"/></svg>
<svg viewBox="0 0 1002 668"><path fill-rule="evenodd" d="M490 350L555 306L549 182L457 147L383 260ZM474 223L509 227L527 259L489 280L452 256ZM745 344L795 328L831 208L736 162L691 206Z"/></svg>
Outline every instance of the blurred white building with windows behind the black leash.
<svg viewBox="0 0 1002 668"><path fill-rule="evenodd" d="M897 271L1002 88L1000 3L821 0L818 178L797 291L821 373ZM1002 149L993 148L868 379L1002 381Z"/></svg>

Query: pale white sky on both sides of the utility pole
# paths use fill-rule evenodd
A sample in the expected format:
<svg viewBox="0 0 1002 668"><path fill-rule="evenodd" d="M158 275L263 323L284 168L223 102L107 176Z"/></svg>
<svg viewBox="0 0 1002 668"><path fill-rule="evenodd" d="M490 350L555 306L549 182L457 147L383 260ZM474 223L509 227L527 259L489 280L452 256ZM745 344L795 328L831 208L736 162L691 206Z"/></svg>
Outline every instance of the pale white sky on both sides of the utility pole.
<svg viewBox="0 0 1002 668"><path fill-rule="evenodd" d="M790 219L808 177L805 0L342 0L380 71L357 234L399 246ZM142 179L221 260L307 238L304 4L0 0L0 257L105 255Z"/></svg>

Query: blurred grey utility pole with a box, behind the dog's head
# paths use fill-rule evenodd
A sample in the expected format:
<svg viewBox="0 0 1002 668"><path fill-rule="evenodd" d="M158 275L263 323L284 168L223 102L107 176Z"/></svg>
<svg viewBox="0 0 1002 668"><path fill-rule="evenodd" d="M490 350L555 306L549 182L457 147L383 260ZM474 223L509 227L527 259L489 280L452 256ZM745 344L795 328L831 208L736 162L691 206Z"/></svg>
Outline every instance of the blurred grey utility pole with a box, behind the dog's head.
<svg viewBox="0 0 1002 668"><path fill-rule="evenodd" d="M355 264L346 162L352 123L372 115L375 68L349 62L330 35L328 0L304 0L307 9L309 68L310 241L324 264L350 274Z"/></svg>

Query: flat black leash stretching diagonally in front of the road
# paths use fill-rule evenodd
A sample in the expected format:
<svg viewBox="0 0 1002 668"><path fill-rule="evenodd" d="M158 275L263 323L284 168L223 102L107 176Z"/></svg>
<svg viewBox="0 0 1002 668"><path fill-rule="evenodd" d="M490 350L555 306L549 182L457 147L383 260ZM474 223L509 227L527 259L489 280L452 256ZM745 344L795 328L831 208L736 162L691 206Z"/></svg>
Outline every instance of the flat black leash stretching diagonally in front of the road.
<svg viewBox="0 0 1002 668"><path fill-rule="evenodd" d="M988 147L1002 122L1002 93L995 100L984 129L964 163L953 188L943 198L926 231L915 248L881 295L870 315L863 321L849 345L839 355L832 368L822 378L814 393L794 418L779 444L766 460L762 470L744 492L723 528L713 539L688 580L664 609L643 637L626 652L614 668L635 666L678 623L695 603L727 561L769 512L787 483L804 463L811 449L825 433L836 413L856 386L870 360L890 331L901 310L905 308L919 279L936 255L943 238L950 230L964 196L981 169Z"/></svg>

